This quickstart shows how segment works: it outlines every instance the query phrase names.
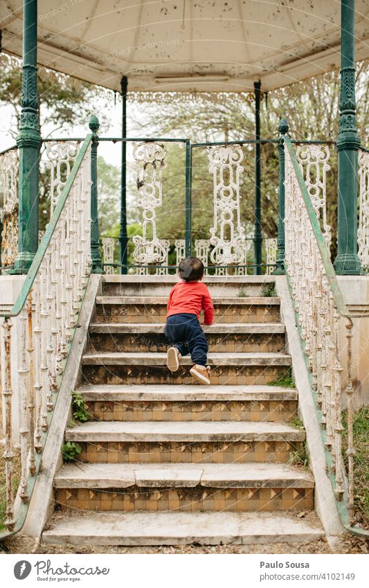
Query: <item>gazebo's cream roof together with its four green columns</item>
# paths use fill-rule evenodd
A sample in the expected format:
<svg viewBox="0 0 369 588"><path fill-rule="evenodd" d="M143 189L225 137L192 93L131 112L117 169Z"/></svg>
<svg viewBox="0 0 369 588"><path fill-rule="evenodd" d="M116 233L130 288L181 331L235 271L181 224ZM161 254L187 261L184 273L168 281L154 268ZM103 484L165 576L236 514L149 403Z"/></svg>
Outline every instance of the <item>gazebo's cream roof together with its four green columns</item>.
<svg viewBox="0 0 369 588"><path fill-rule="evenodd" d="M369 57L364 0L311 2L11 0L1 7L2 48L23 57L19 253L37 250L37 66L120 91L255 91L255 265L261 261L260 89L273 91L341 64L338 274L358 274L354 61ZM340 19L341 17L341 19ZM340 26L341 21L341 26ZM23 39L23 44L22 44ZM355 54L354 54L355 51ZM127 263L122 143L121 262Z"/></svg>

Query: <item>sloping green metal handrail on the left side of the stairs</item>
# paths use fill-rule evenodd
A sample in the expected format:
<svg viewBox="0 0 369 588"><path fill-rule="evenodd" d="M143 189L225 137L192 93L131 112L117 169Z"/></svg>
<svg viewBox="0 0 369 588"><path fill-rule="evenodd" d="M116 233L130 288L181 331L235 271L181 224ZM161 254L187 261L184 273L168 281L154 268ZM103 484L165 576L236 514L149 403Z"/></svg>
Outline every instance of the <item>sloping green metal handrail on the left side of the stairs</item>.
<svg viewBox="0 0 369 588"><path fill-rule="evenodd" d="M30 266L30 269L28 269L28 274L26 275L26 279L24 280L24 283L21 287L21 291L17 296L17 300L15 301L11 310L8 310L6 312L0 312L0 317L17 317L19 312L21 312L22 308L24 307L24 304L27 300L27 296L30 293L30 289L32 288L33 282L35 281L37 271L39 271L39 267L42 264L42 260L46 253L46 249L48 248L48 244L51 242L51 238L53 237L57 221L59 220L60 215L62 214L64 204L66 203L66 199L69 196L69 191L71 190L73 181L75 180L75 177L78 174L78 170L80 169L82 159L84 158L84 155L86 154L87 149L89 148L89 144L91 143L91 139L92 134L88 134L81 145L80 152L78 153L78 156L75 159L75 163L73 165L71 173L69 174L68 179L66 180L65 186L62 190L62 194L60 195L60 198L57 200L57 204L55 206L53 214L51 215L50 222L46 226L45 234L42 238L41 243L39 244L39 248L37 249L35 257L33 258L33 262Z"/></svg>

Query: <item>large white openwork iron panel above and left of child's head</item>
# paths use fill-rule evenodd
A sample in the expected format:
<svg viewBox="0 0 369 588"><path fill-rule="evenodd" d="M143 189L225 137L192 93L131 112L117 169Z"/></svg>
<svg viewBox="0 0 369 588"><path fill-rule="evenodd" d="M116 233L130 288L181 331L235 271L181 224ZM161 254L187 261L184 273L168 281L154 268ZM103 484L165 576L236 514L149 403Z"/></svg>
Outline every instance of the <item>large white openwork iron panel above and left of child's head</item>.
<svg viewBox="0 0 369 588"><path fill-rule="evenodd" d="M136 263L147 265L165 262L166 251L156 236L156 212L163 202L163 178L166 150L161 143L134 143L136 161L136 206L143 211L143 235L135 235L133 258Z"/></svg>

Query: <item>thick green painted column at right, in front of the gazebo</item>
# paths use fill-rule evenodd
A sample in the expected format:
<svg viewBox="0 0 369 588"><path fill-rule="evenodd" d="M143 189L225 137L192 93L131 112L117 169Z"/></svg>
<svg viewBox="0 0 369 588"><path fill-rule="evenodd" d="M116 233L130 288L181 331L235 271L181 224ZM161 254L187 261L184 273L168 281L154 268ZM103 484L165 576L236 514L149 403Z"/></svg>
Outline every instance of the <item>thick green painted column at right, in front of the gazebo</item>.
<svg viewBox="0 0 369 588"><path fill-rule="evenodd" d="M341 96L339 135L337 274L361 273L357 256L357 132L354 62L354 0L341 0Z"/></svg>

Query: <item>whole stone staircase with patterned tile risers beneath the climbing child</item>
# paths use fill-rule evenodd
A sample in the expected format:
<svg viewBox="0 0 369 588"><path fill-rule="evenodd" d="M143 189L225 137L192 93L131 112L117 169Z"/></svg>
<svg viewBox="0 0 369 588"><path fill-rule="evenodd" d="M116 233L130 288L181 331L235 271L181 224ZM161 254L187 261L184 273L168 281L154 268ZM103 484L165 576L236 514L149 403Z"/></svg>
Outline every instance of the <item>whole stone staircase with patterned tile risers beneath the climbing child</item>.
<svg viewBox="0 0 369 588"><path fill-rule="evenodd" d="M201 386L189 359L177 373L165 366L174 278L102 276L78 389L91 420L65 431L81 452L55 476L44 542L246 544L324 535L312 473L289 463L305 440L293 424L297 391L268 385L291 366L279 299L261 296L271 280L207 279L215 323L205 328L211 384Z"/></svg>

